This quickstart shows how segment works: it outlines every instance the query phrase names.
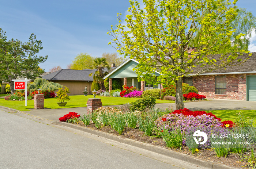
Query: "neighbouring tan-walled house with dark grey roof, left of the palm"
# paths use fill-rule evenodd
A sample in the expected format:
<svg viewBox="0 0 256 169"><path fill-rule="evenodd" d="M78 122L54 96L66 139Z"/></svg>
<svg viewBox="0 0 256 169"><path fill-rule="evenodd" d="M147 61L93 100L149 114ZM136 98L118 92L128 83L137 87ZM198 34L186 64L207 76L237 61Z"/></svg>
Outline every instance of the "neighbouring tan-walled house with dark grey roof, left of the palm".
<svg viewBox="0 0 256 169"><path fill-rule="evenodd" d="M42 78L57 82L65 87L69 88L69 95L83 95L83 91L87 86L88 94L91 92L91 84L93 82L93 76L89 76L90 73L94 74L95 70L72 70L61 69L56 72L42 76Z"/></svg>

